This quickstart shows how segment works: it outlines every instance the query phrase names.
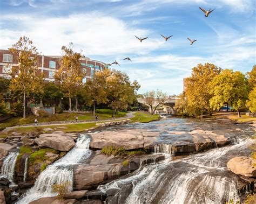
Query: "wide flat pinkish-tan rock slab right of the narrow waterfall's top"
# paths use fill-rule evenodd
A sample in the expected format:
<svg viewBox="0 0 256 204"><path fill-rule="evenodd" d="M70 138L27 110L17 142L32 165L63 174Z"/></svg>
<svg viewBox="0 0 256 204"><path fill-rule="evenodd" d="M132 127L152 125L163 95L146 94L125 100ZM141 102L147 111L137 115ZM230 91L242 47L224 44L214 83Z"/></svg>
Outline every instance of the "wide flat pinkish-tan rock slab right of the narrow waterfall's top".
<svg viewBox="0 0 256 204"><path fill-rule="evenodd" d="M91 148L102 149L104 146L120 146L126 150L144 147L143 136L134 133L103 131L91 135Z"/></svg>

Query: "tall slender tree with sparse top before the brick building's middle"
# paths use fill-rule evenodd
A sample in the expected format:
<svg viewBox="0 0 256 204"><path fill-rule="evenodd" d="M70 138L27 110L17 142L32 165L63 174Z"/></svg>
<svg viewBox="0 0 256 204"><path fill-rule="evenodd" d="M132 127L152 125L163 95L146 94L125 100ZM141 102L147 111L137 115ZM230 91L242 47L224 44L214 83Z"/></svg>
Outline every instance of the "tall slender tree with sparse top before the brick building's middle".
<svg viewBox="0 0 256 204"><path fill-rule="evenodd" d="M60 82L64 96L69 98L69 111L71 111L71 99L76 97L77 89L83 85L82 81L86 72L81 68L79 61L83 55L74 51L73 43L70 43L68 47L62 46L62 51L63 58L60 68L55 73L55 79Z"/></svg>

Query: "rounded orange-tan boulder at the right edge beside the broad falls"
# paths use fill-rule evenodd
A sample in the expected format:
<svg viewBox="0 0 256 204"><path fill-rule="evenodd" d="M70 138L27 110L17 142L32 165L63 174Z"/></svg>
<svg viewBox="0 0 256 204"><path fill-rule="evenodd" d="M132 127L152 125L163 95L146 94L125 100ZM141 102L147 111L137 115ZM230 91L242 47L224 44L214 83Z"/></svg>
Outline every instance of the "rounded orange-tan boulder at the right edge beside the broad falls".
<svg viewBox="0 0 256 204"><path fill-rule="evenodd" d="M256 168L253 163L255 164L256 160L250 157L235 157L228 161L227 168L235 174L256 177Z"/></svg>

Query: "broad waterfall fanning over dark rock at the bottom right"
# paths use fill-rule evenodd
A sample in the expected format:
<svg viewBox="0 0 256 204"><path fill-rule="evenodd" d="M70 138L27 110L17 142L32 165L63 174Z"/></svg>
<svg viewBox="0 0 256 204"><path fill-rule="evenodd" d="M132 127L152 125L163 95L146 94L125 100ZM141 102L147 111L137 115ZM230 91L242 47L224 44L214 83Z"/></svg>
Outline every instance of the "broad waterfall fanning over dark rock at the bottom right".
<svg viewBox="0 0 256 204"><path fill-rule="evenodd" d="M198 153L169 163L146 166L136 175L100 185L102 192L118 191L110 203L225 203L239 199L238 177L226 171L226 160L233 152L244 152L252 139ZM229 158L228 158L229 157ZM127 186L131 186L127 196Z"/></svg>

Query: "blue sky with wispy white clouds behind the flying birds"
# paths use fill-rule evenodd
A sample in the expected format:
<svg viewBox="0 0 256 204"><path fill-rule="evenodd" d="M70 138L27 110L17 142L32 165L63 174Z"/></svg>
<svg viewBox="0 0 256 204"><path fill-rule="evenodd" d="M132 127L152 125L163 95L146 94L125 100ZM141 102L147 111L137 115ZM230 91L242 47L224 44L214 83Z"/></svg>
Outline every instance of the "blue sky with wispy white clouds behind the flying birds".
<svg viewBox="0 0 256 204"><path fill-rule="evenodd" d="M205 17L199 6L215 10ZM0 49L27 36L44 55L60 55L72 42L86 57L117 60L111 68L137 80L138 93L178 95L198 64L251 71L255 7L253 0L1 0ZM140 43L134 35L149 38Z"/></svg>

